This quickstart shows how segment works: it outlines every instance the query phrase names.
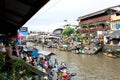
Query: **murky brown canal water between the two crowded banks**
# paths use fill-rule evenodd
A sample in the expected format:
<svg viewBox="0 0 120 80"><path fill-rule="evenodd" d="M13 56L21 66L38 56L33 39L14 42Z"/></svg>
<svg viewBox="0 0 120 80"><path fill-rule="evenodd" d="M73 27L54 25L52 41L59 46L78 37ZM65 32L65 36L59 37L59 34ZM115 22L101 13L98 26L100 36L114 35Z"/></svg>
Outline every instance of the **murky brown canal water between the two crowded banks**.
<svg viewBox="0 0 120 80"><path fill-rule="evenodd" d="M120 80L120 58L110 58L102 54L75 54L55 48L36 47L39 50L56 53L59 63L65 62L70 73L77 73L71 80Z"/></svg>

